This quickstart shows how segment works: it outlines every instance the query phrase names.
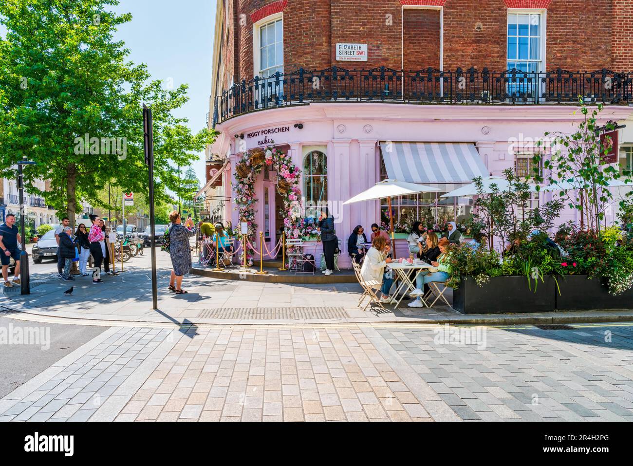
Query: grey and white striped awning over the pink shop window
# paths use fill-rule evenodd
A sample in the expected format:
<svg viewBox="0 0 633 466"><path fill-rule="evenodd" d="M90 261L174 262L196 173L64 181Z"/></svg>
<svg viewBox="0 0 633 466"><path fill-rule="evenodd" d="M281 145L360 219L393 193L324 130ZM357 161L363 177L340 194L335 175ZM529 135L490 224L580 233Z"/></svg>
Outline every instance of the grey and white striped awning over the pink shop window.
<svg viewBox="0 0 633 466"><path fill-rule="evenodd" d="M487 177L475 144L468 142L381 141L382 160L391 179L410 183L469 183Z"/></svg>

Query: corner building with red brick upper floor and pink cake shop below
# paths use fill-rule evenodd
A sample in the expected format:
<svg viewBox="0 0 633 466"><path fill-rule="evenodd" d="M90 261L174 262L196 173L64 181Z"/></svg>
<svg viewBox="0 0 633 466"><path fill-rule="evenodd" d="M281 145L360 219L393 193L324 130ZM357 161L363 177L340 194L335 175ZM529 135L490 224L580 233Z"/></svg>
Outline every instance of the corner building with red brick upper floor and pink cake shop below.
<svg viewBox="0 0 633 466"><path fill-rule="evenodd" d="M337 44L353 44L356 60L341 60ZM341 77L332 67L365 71ZM370 71L380 67L382 76ZM427 68L437 71L415 74ZM458 68L473 70L463 91ZM557 68L562 75L548 73ZM608 104L599 122L627 126L620 164L630 168L633 0L218 0L209 125L219 135L207 158L226 158L228 196L238 155L263 145L250 135L287 129L275 144L302 168L304 193L323 177L321 197L310 199L312 192L303 201L334 203L339 237L346 237L354 225L380 221L385 206L342 202L384 177L448 192L470 181L470 168L482 175L523 170L534 148L509 142L572 131L579 116L568 106L579 94ZM397 153L387 153L391 142ZM327 176L306 175L310 157L327 164ZM461 175L446 163L461 164ZM258 180L256 191L257 223L275 241L274 184ZM235 225L234 207L227 203L224 217ZM429 208L436 220L469 212L436 194L430 203L400 199L397 220Z"/></svg>

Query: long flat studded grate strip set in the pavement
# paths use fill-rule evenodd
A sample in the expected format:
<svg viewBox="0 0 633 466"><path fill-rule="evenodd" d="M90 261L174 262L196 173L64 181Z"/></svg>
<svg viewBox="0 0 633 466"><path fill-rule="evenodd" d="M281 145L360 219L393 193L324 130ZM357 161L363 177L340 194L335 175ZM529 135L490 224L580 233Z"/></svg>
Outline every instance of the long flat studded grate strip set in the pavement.
<svg viewBox="0 0 633 466"><path fill-rule="evenodd" d="M218 319L333 319L348 318L349 314L340 307L315 307L315 308L220 308L203 309L198 318Z"/></svg>

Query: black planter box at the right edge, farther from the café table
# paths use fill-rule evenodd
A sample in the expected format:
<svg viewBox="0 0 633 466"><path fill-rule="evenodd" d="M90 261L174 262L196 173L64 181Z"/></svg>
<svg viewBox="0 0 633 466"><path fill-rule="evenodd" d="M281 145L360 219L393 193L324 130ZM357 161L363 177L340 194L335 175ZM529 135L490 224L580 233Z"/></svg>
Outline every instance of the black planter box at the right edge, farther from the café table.
<svg viewBox="0 0 633 466"><path fill-rule="evenodd" d="M613 296L603 280L588 279L587 275L558 277L558 285L556 309L559 311L633 309L633 289Z"/></svg>

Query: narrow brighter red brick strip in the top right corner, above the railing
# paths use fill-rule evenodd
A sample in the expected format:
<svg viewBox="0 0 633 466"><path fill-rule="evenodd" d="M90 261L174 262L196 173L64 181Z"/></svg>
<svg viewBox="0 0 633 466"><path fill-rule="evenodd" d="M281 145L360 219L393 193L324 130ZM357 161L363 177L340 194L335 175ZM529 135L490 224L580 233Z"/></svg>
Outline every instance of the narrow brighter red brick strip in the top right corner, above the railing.
<svg viewBox="0 0 633 466"><path fill-rule="evenodd" d="M611 18L611 68L633 71L633 0L613 0Z"/></svg>

